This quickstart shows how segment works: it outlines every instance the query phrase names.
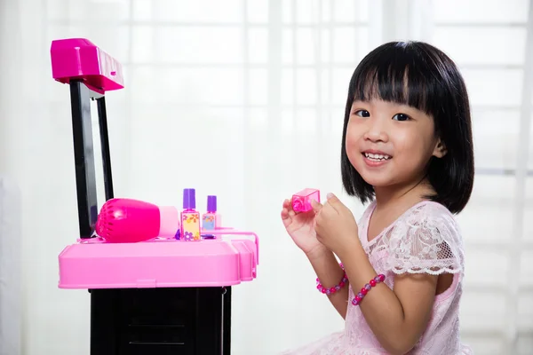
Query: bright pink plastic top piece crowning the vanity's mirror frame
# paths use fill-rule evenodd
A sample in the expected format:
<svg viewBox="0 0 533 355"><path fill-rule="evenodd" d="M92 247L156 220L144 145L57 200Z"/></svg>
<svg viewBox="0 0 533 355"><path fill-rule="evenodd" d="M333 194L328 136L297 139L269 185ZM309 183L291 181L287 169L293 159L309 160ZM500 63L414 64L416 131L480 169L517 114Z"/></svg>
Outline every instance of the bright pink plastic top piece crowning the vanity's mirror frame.
<svg viewBox="0 0 533 355"><path fill-rule="evenodd" d="M84 38L52 41L52 76L60 83L82 79L93 91L123 89L122 65L106 51Z"/></svg>

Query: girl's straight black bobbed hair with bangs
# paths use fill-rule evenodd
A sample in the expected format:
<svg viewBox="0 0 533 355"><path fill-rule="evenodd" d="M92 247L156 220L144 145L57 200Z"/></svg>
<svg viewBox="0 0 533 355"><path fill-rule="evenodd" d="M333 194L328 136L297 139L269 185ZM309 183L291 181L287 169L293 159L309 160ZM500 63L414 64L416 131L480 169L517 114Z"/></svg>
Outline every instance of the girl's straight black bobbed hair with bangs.
<svg viewBox="0 0 533 355"><path fill-rule="evenodd" d="M465 208L473 188L473 138L465 82L455 63L433 45L391 42L362 59L350 81L340 165L346 193L362 203L371 201L374 188L363 180L346 154L346 128L354 100L382 99L408 105L434 119L435 135L447 154L432 157L426 177L435 193L425 196L452 213Z"/></svg>

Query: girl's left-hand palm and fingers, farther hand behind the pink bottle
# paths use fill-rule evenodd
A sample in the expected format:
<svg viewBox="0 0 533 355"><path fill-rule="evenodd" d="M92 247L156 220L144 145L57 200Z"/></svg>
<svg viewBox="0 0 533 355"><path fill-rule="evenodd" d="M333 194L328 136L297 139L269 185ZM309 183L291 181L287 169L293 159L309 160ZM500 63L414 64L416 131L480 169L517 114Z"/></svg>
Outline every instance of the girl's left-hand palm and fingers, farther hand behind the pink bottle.
<svg viewBox="0 0 533 355"><path fill-rule="evenodd" d="M313 210L297 214L292 209L292 201L285 200L283 201L282 221L292 241L306 253L306 256L314 256L317 253L327 251L322 243L316 239Z"/></svg>

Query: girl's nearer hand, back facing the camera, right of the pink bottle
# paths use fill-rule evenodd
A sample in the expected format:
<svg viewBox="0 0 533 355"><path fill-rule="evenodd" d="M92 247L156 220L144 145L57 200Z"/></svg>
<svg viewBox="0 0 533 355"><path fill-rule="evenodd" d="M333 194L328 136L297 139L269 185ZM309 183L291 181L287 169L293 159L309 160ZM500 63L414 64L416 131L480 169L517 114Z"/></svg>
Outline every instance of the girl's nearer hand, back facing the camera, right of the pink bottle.
<svg viewBox="0 0 533 355"><path fill-rule="evenodd" d="M313 201L317 240L342 260L343 254L353 250L359 241L359 230L352 211L337 196L328 193L328 200L322 205Z"/></svg>

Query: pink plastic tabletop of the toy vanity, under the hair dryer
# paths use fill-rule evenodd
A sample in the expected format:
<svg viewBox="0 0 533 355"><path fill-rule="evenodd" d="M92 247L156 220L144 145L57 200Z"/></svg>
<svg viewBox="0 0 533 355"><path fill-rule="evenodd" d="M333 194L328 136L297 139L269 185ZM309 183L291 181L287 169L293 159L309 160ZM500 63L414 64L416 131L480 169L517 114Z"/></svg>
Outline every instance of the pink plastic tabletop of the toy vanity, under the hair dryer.
<svg viewBox="0 0 533 355"><path fill-rule="evenodd" d="M211 233L212 231L210 231ZM259 239L80 240L60 254L60 288L181 288L232 286L256 278Z"/></svg>

